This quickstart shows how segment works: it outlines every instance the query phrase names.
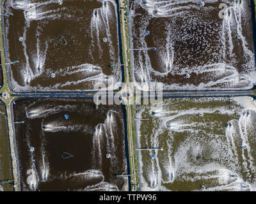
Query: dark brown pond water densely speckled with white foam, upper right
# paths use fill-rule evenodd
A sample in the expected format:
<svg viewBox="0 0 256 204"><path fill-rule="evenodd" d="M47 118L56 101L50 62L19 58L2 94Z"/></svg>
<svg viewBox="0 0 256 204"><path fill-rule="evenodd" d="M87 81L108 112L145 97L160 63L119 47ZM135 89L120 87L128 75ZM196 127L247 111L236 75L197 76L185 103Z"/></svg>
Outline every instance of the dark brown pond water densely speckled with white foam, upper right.
<svg viewBox="0 0 256 204"><path fill-rule="evenodd" d="M255 82L249 1L130 1L134 77L165 89L250 89ZM220 18L221 3L227 4ZM149 35L145 31L150 31ZM240 36L241 39L237 38ZM185 78L189 74L190 78Z"/></svg>

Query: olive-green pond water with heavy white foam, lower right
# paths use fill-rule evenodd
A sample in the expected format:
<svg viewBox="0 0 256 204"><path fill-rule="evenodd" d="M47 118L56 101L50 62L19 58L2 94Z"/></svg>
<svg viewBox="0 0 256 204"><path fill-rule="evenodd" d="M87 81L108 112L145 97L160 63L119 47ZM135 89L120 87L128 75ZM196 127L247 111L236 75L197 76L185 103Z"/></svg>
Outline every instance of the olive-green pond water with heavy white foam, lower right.
<svg viewBox="0 0 256 204"><path fill-rule="evenodd" d="M138 154L141 190L255 191L252 98L164 99L137 105L136 118L147 119L137 123L138 147L163 148Z"/></svg>

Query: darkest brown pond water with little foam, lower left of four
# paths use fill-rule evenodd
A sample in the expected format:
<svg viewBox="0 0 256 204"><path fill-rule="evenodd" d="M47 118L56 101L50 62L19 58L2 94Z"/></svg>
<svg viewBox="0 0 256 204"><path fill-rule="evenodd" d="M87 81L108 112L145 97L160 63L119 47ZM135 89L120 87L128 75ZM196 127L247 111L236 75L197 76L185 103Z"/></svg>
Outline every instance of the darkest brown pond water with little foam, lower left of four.
<svg viewBox="0 0 256 204"><path fill-rule="evenodd" d="M96 110L92 99L77 98L15 103L15 121L24 121L15 124L21 191L127 190L127 179L116 177L127 173L122 106Z"/></svg>

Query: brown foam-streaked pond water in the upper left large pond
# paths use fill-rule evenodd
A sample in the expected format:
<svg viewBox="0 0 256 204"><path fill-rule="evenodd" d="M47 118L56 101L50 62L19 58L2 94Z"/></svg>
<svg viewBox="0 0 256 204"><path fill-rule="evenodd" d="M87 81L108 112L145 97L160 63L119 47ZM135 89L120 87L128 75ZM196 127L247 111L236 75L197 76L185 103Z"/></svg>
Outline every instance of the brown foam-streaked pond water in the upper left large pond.
<svg viewBox="0 0 256 204"><path fill-rule="evenodd" d="M120 64L115 1L57 2L4 3L13 13L4 17L6 57L19 61L10 66L15 91L91 90L120 81L120 66L109 66Z"/></svg>

